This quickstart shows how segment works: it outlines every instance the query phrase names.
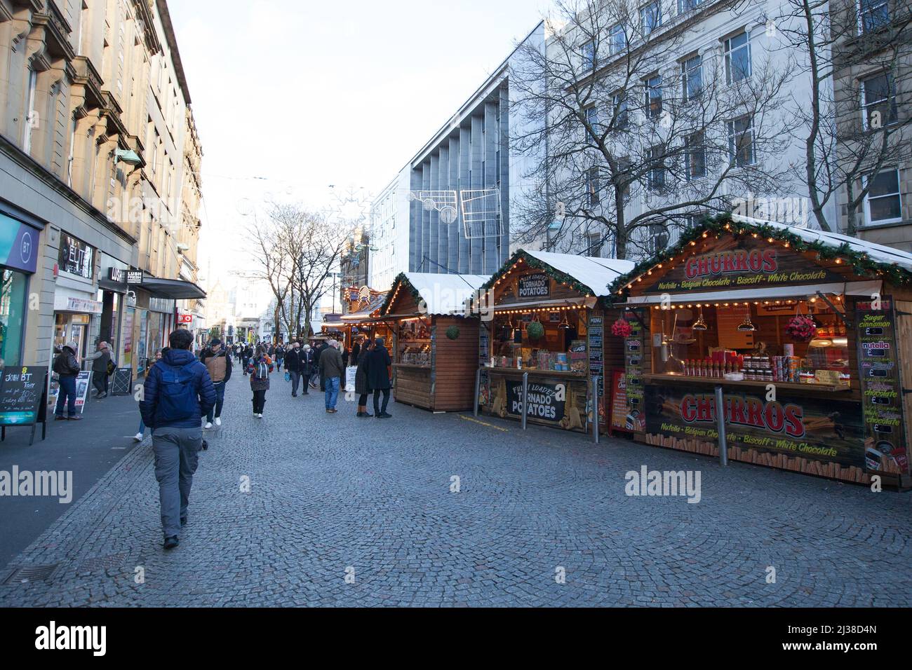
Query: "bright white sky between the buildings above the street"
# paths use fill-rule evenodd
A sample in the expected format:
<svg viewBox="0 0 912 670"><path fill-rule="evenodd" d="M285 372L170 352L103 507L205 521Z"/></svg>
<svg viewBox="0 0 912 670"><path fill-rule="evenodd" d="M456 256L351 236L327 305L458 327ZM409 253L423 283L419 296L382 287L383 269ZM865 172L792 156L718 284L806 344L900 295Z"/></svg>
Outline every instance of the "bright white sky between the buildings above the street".
<svg viewBox="0 0 912 670"><path fill-rule="evenodd" d="M252 264L244 235L252 220L239 210L269 193L320 209L331 201L329 184L378 193L549 3L169 6L202 139L200 265L211 285Z"/></svg>

